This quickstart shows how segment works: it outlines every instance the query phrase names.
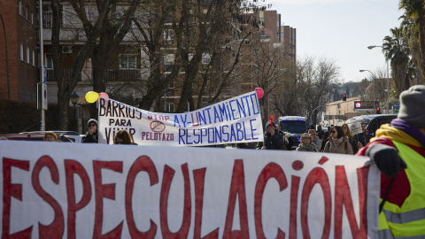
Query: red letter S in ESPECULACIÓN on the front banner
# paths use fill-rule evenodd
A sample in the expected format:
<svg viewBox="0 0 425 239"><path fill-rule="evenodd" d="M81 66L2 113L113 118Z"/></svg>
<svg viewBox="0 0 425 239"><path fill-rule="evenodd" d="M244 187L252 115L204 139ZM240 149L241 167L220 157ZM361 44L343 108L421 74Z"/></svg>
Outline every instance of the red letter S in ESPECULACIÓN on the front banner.
<svg viewBox="0 0 425 239"><path fill-rule="evenodd" d="M60 208L58 201L56 201L53 197L50 196L44 189L42 189L42 185L40 184L40 171L42 168L46 166L50 170L51 181L58 184L59 183L59 172L58 166L56 166L55 161L49 156L42 156L42 158L38 159L35 163L33 174L31 176L31 181L33 183L33 187L35 192L42 197L46 203L50 204L55 212L54 220L50 223L50 225L43 225L42 223L38 224L38 231L40 238L62 238L65 231L65 221L64 221L64 212Z"/></svg>

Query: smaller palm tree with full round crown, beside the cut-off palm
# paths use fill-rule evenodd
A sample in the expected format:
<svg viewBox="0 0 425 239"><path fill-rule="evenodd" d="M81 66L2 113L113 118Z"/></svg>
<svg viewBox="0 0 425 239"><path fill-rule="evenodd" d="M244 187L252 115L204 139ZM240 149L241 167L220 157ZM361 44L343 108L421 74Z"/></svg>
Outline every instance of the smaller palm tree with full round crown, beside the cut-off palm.
<svg viewBox="0 0 425 239"><path fill-rule="evenodd" d="M390 60L391 76L394 79L398 93L410 87L407 77L407 66L410 60L409 46L403 37L403 31L398 28L390 29L390 35L383 38L383 53Z"/></svg>

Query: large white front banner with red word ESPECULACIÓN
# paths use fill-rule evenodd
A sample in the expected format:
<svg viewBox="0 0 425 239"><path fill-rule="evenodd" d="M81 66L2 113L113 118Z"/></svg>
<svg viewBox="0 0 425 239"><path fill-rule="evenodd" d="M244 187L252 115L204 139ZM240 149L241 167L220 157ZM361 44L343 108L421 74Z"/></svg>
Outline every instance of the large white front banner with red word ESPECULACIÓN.
<svg viewBox="0 0 425 239"><path fill-rule="evenodd" d="M0 156L6 238L377 237L368 158L19 141Z"/></svg>

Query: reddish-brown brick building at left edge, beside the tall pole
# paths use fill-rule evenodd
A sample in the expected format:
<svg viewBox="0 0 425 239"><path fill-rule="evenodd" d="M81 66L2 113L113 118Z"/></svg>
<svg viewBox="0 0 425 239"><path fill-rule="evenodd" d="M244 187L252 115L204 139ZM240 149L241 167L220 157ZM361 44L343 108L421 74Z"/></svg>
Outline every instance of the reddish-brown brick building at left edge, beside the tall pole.
<svg viewBox="0 0 425 239"><path fill-rule="evenodd" d="M37 100L37 12L35 0L0 1L0 99Z"/></svg>

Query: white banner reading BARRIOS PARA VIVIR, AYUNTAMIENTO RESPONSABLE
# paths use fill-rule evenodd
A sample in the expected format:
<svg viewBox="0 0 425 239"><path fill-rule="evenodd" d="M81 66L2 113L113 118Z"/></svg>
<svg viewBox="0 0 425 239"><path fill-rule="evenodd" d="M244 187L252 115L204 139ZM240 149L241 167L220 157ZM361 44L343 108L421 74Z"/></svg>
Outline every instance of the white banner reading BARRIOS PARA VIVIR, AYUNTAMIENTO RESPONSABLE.
<svg viewBox="0 0 425 239"><path fill-rule="evenodd" d="M113 144L126 129L143 145L197 146L263 141L259 101L255 91L212 104L195 112L148 112L99 97L99 142Z"/></svg>

